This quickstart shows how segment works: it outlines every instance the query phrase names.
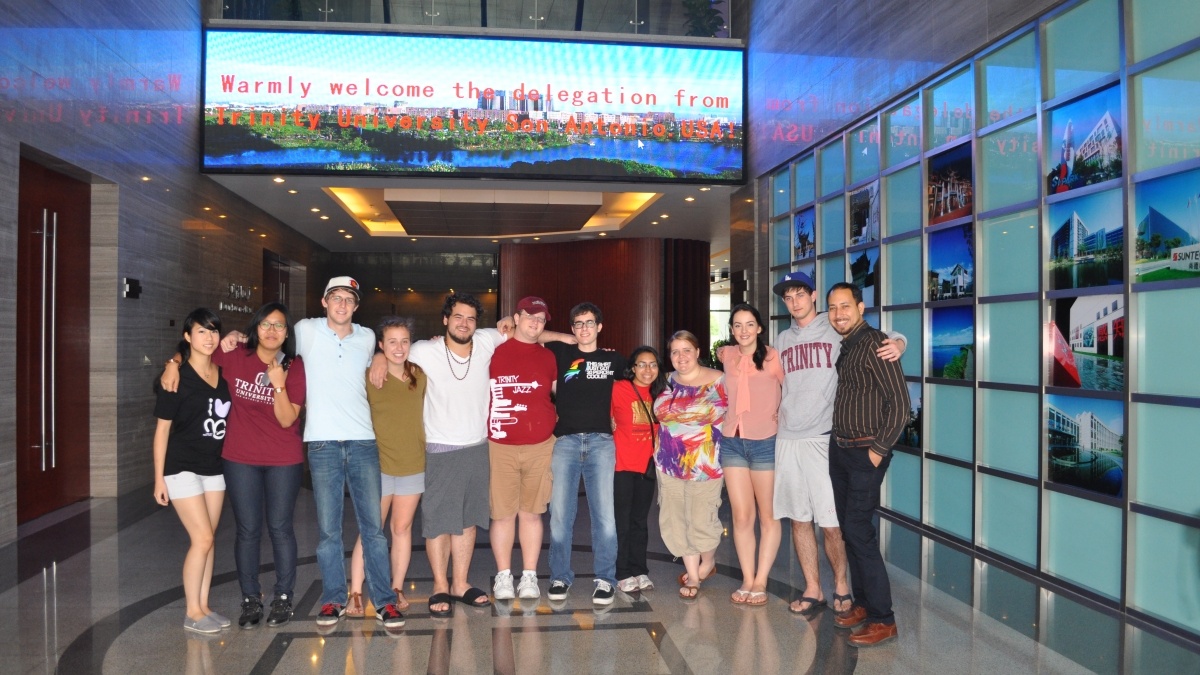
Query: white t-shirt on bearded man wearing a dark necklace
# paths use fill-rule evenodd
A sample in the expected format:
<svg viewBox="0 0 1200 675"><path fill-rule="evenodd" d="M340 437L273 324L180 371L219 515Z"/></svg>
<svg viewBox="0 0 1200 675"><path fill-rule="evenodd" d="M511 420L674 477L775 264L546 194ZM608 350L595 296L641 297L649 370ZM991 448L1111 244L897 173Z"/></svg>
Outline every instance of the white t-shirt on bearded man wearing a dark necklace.
<svg viewBox="0 0 1200 675"><path fill-rule="evenodd" d="M425 370L425 441L446 446L475 446L487 438L491 401L488 370L504 335L494 328L475 330L470 359L446 351L440 341L414 342L408 358ZM460 380L461 378L461 380Z"/></svg>

